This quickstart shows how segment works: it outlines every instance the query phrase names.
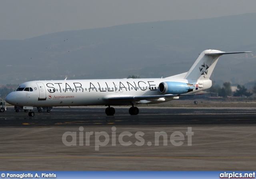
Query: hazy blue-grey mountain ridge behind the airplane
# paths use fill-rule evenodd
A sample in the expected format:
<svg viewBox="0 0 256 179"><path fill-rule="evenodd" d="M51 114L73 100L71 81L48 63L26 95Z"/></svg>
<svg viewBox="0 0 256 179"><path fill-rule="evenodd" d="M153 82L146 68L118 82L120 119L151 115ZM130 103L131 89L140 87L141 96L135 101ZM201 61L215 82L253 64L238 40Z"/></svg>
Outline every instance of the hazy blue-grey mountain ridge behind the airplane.
<svg viewBox="0 0 256 179"><path fill-rule="evenodd" d="M252 51L221 56L212 80L255 80L256 13L58 32L0 40L0 84L29 80L161 78L187 72L206 49Z"/></svg>

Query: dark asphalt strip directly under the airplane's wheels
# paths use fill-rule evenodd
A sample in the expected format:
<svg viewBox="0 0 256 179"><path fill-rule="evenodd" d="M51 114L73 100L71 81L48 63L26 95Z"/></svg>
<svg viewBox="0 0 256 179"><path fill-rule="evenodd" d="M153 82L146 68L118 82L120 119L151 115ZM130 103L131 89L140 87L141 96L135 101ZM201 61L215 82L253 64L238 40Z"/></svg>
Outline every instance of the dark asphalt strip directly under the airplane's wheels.
<svg viewBox="0 0 256 179"><path fill-rule="evenodd" d="M139 108L130 115L127 108L116 108L114 116L105 107L54 108L50 113L35 111L34 117L9 107L0 113L0 126L70 126L70 125L192 125L255 124L256 108Z"/></svg>

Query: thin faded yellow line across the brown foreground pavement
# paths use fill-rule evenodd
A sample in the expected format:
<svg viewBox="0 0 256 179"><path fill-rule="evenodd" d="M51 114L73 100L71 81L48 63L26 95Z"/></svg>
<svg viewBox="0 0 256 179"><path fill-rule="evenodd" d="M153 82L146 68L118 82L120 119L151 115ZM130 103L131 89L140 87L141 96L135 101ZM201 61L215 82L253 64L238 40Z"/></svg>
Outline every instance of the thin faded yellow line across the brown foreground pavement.
<svg viewBox="0 0 256 179"><path fill-rule="evenodd" d="M65 158L142 158L142 159L256 159L256 157L136 157L136 156L62 156L62 157L0 157L0 159L65 159Z"/></svg>

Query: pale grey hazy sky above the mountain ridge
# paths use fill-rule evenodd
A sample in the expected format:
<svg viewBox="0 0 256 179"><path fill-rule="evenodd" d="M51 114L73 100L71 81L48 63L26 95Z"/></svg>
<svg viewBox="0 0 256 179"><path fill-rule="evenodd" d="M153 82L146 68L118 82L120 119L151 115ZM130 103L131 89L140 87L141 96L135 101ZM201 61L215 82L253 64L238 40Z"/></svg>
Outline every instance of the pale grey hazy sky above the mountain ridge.
<svg viewBox="0 0 256 179"><path fill-rule="evenodd" d="M0 40L256 12L256 0L0 0Z"/></svg>

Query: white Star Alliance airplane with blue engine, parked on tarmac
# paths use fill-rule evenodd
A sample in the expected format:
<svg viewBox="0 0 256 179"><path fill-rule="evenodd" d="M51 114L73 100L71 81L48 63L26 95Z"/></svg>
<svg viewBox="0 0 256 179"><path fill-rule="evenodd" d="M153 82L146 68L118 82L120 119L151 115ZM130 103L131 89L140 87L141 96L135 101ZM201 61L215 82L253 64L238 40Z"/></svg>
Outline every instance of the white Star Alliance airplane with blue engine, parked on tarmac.
<svg viewBox="0 0 256 179"><path fill-rule="evenodd" d="M21 84L6 96L6 102L30 110L34 107L106 105L106 115L114 115L110 105L132 105L130 115L139 113L137 104L163 103L212 86L210 76L220 56L248 52L204 50L190 70L167 78L108 79L108 80L50 80Z"/></svg>

